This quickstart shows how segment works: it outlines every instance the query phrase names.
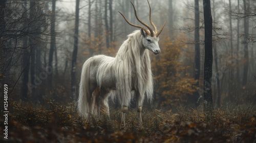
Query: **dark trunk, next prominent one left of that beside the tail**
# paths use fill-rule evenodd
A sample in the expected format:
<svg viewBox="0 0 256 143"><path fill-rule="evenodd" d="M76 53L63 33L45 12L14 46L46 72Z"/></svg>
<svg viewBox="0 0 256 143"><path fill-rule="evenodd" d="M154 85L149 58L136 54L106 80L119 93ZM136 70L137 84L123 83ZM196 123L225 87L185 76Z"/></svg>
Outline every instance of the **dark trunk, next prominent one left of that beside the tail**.
<svg viewBox="0 0 256 143"><path fill-rule="evenodd" d="M56 46L56 40L55 40L55 7L56 7L56 0L52 0L52 15L51 15L51 43L50 43L50 51L49 51L49 68L48 73L51 73L48 75L48 88L49 90L52 90L52 76L53 76L53 54L54 49Z"/></svg>

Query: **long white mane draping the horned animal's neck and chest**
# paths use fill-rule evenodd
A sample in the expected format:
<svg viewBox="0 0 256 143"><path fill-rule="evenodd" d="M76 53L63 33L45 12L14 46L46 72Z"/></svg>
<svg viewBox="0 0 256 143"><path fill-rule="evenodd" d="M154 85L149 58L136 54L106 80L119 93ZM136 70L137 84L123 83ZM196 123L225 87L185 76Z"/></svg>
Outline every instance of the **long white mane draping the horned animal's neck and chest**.
<svg viewBox="0 0 256 143"><path fill-rule="evenodd" d="M142 94L146 93L148 99L153 99L153 76L150 55L142 45L140 31L136 30L127 37L128 39L121 45L115 59L108 57L107 62L99 67L97 81L101 86L102 80L105 79L104 71L112 68L116 78L117 94L123 97L119 98L120 103L129 105L132 90L139 91L143 98Z"/></svg>

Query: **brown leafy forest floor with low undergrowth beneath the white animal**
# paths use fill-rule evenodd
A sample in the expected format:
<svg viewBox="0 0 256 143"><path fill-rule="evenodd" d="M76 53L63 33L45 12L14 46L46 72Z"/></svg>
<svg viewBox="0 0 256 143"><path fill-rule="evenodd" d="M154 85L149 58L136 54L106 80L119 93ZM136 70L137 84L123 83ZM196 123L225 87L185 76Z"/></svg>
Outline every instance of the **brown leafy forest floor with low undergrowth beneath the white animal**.
<svg viewBox="0 0 256 143"><path fill-rule="evenodd" d="M74 104L11 102L9 108L8 139L1 119L0 142L256 142L256 110L250 105L215 109L208 122L201 107L180 107L176 113L144 109L143 128L136 110L129 109L124 129L120 110L111 109L111 119L102 115L89 123Z"/></svg>

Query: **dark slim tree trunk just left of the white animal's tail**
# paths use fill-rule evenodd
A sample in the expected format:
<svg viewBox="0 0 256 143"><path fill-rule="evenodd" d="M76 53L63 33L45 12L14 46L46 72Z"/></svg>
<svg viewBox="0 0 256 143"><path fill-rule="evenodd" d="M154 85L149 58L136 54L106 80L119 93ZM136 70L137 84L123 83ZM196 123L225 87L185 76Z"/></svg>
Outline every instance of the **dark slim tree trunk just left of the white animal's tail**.
<svg viewBox="0 0 256 143"><path fill-rule="evenodd" d="M73 50L72 61L71 61L71 93L74 100L76 100L76 56L78 51L79 2L80 0L76 0L74 50Z"/></svg>

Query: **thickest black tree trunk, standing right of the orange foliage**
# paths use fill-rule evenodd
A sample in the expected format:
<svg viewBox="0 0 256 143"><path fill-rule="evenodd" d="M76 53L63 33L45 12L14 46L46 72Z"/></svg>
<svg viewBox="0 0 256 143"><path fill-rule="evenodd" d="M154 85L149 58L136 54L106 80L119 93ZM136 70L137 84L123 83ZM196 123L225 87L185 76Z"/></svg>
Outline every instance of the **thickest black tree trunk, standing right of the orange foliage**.
<svg viewBox="0 0 256 143"><path fill-rule="evenodd" d="M212 106L212 16L210 0L203 0L204 5L204 25L205 25L205 44L204 44L204 114L206 120L211 120Z"/></svg>

